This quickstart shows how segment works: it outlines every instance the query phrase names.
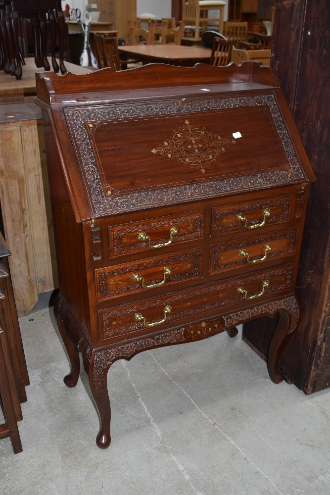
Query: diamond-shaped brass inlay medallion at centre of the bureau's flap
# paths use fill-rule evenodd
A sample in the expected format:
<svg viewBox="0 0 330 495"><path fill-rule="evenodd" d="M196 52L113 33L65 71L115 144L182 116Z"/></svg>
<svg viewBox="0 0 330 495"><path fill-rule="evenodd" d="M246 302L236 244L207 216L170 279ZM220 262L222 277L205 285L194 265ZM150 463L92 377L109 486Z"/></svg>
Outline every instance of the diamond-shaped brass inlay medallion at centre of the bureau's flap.
<svg viewBox="0 0 330 495"><path fill-rule="evenodd" d="M152 148L151 153L158 153L168 158L181 161L185 165L199 169L203 174L217 157L224 153L225 149L235 145L235 139L222 138L219 134L206 131L205 127L190 124L174 131L162 145Z"/></svg>

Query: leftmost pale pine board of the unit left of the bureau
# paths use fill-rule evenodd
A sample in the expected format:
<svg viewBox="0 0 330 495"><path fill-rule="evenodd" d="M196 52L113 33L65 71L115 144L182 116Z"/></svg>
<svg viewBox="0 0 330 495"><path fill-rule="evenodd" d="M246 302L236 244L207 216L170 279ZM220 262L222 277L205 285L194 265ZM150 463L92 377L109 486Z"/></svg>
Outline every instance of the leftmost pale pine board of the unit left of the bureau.
<svg viewBox="0 0 330 495"><path fill-rule="evenodd" d="M25 187L20 126L1 126L0 201L18 315L28 314L38 292Z"/></svg>

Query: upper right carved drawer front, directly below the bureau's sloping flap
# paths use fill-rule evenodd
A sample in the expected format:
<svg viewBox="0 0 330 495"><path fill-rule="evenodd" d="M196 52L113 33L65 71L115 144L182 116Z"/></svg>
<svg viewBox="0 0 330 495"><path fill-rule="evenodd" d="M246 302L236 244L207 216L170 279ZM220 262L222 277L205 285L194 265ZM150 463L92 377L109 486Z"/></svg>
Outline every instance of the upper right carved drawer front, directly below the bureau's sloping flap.
<svg viewBox="0 0 330 495"><path fill-rule="evenodd" d="M212 235L251 232L289 220L291 195L213 208Z"/></svg>

